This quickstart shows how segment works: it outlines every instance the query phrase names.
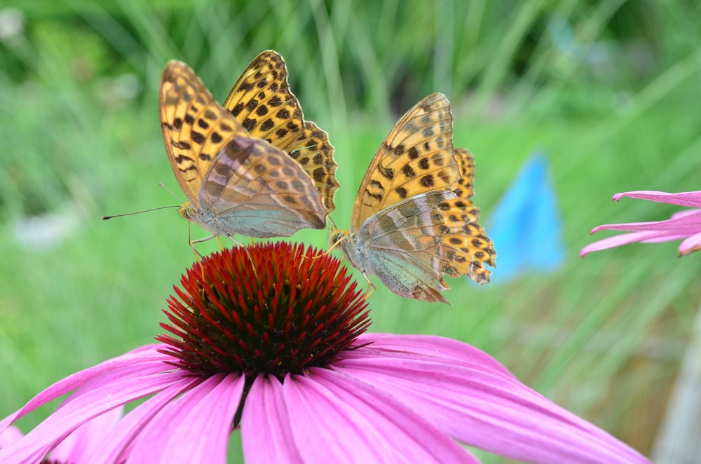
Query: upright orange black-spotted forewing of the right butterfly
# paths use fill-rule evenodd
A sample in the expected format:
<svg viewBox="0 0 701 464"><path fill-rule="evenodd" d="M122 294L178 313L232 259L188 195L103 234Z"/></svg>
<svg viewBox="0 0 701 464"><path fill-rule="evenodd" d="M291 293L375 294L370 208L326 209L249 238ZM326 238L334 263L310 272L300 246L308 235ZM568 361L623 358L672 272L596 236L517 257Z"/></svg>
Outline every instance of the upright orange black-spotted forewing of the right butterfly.
<svg viewBox="0 0 701 464"><path fill-rule="evenodd" d="M450 191L460 179L453 154L453 116L434 93L400 119L377 149L355 197L351 233L373 214L412 196Z"/></svg>

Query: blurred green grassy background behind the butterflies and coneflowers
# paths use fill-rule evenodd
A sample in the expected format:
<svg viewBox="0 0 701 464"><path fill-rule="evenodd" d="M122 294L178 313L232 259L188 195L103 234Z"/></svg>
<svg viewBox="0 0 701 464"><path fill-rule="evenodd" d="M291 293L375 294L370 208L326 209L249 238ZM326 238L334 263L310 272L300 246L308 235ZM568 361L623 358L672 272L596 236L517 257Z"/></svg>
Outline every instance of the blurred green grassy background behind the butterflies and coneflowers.
<svg viewBox="0 0 701 464"><path fill-rule="evenodd" d="M306 118L336 146L337 225L348 226L397 118L442 92L456 146L475 155L487 233L501 227L497 252L515 250L497 258L515 263L508 278L498 267L485 287L451 279L452 306L379 285L372 329L472 343L651 453L701 304L700 257L678 258L677 243L578 252L594 226L681 209L613 193L701 189L700 19L683 0L4 1L0 416L160 332L165 298L193 261L186 221L175 210L100 217L183 199L158 120L167 60L188 63L222 101L273 48ZM520 212L495 215L536 151L545 180L507 198ZM531 221L546 203L553 214ZM327 247L327 231L293 240ZM552 266L537 264L550 254Z"/></svg>

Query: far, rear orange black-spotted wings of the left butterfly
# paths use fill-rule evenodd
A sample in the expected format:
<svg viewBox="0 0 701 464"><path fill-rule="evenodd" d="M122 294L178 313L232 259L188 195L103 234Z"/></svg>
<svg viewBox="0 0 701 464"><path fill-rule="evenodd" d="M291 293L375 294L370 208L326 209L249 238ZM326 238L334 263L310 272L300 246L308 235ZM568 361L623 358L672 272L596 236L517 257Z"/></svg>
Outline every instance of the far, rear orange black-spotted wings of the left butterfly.
<svg viewBox="0 0 701 464"><path fill-rule="evenodd" d="M334 147L325 131L304 121L279 53L266 50L255 57L231 88L224 108L252 137L267 140L296 160L322 194L327 212L334 210L334 195L339 189Z"/></svg>

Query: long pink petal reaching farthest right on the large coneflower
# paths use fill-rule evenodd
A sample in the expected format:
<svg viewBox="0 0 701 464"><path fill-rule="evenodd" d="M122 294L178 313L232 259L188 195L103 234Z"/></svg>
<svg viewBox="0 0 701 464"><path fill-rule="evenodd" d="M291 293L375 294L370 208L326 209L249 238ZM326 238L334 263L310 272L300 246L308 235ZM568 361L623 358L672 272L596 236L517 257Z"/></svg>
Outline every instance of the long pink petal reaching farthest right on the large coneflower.
<svg viewBox="0 0 701 464"><path fill-rule="evenodd" d="M367 346L344 353L334 369L410 404L461 442L529 462L647 462L491 366L450 365L416 353L404 353L400 361L399 353L392 352L383 360L382 351Z"/></svg>

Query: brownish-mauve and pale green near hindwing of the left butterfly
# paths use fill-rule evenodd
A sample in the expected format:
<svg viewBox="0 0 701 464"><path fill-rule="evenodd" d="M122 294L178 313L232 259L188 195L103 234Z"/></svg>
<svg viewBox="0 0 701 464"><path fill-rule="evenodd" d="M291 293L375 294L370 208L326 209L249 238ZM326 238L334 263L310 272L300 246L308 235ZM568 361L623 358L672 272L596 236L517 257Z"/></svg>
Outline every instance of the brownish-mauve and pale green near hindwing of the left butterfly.
<svg viewBox="0 0 701 464"><path fill-rule="evenodd" d="M287 154L251 137L236 136L203 179L200 205L215 232L268 238L300 228L324 228L320 193Z"/></svg>

